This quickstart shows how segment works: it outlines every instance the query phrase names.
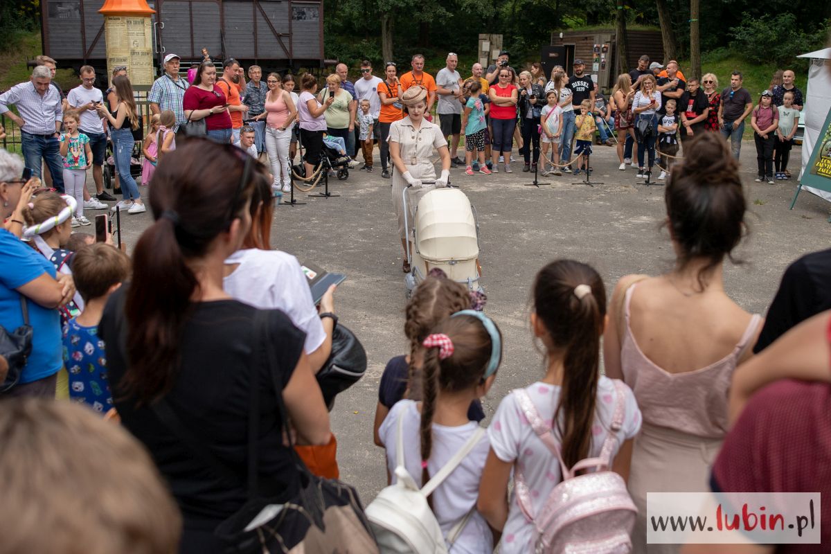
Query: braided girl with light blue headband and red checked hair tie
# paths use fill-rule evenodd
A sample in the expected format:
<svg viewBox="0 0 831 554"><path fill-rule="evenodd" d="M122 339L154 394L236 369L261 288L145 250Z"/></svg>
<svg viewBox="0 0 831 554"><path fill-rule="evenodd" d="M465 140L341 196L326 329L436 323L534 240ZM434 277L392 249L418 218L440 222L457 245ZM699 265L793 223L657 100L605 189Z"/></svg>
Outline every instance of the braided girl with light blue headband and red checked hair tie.
<svg viewBox="0 0 831 554"><path fill-rule="evenodd" d="M403 418L406 470L423 486L479 429L478 423L468 419L468 408L473 400L487 394L502 359L499 329L479 311L457 311L435 326L424 346L424 400L399 401L378 429L391 483L396 482L399 419ZM482 434L479 443L430 496L445 539L450 529L470 514L450 554L494 551L493 534L475 510L488 449L487 434Z"/></svg>

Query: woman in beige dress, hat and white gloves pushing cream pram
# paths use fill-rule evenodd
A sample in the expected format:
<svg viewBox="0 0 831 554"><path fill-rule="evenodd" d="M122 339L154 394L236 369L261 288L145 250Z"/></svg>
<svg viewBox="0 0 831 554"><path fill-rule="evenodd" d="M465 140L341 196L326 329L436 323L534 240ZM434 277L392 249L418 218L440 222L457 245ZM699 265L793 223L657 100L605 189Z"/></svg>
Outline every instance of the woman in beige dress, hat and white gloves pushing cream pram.
<svg viewBox="0 0 831 554"><path fill-rule="evenodd" d="M421 86L411 86L401 95L404 105L404 119L397 120L390 126L390 155L396 171L392 174L392 205L398 216L398 234L401 248L404 250L404 263L401 270L410 272L407 262L407 229L404 224L404 189L412 187L407 197L407 205L412 209L421 196L431 189L446 187L450 180L450 150L447 140L441 134L439 125L426 120L427 90ZM433 150L439 151L441 158L441 177L435 178Z"/></svg>

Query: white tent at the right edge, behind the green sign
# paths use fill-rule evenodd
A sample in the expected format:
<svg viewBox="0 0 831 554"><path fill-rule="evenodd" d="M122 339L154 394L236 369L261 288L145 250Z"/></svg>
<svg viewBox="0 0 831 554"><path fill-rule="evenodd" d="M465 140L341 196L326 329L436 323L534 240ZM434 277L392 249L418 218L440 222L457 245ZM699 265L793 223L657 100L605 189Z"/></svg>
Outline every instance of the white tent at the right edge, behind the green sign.
<svg viewBox="0 0 831 554"><path fill-rule="evenodd" d="M804 100L805 134L802 140L802 169L799 172L799 179L802 179L802 172L808 165L811 153L814 152L814 145L819 139L825 117L831 110L831 47L797 57L811 59L808 70L808 91ZM831 193L811 187L803 187L803 189L831 201Z"/></svg>

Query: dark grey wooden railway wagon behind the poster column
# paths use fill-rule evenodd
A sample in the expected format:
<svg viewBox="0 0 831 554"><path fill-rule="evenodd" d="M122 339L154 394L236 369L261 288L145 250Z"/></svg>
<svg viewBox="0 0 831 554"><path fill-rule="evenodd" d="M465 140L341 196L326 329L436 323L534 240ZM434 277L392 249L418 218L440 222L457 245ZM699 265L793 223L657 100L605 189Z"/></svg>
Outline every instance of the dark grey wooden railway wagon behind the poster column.
<svg viewBox="0 0 831 554"><path fill-rule="evenodd" d="M265 69L322 67L322 0L150 0L155 66L165 53L234 57ZM104 0L42 0L43 53L58 66L105 71Z"/></svg>

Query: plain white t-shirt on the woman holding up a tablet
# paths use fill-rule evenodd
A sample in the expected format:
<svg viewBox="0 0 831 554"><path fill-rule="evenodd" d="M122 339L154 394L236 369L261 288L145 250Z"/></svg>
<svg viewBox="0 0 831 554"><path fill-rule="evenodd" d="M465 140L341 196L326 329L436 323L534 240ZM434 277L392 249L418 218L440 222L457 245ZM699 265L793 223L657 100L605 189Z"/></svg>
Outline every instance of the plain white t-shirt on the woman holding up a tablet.
<svg viewBox="0 0 831 554"><path fill-rule="evenodd" d="M296 257L279 250L249 248L234 252L225 263L239 264L223 279L225 292L250 306L284 311L294 326L306 333L303 345L306 353L320 348L326 340L326 331Z"/></svg>

